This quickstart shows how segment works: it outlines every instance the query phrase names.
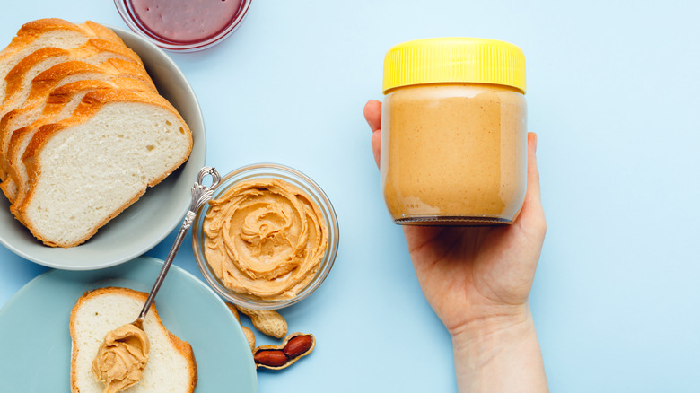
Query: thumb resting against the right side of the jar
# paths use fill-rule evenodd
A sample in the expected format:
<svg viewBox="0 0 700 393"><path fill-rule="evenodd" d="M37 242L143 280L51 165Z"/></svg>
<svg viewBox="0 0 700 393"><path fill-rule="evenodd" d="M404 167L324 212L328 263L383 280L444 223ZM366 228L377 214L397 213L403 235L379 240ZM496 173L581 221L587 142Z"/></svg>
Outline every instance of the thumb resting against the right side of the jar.
<svg viewBox="0 0 700 393"><path fill-rule="evenodd" d="M516 223L544 238L547 222L540 196L537 149L538 135L528 133L528 191Z"/></svg>

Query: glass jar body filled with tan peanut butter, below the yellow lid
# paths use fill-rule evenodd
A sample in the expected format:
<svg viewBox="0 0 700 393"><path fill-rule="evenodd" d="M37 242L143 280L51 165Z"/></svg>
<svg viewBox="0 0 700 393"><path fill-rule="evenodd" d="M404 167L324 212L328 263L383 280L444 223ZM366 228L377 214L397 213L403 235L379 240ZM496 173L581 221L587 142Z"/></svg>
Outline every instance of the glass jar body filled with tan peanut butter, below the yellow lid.
<svg viewBox="0 0 700 393"><path fill-rule="evenodd" d="M407 86L382 108L381 180L398 223L512 223L525 197L526 104L478 83Z"/></svg>

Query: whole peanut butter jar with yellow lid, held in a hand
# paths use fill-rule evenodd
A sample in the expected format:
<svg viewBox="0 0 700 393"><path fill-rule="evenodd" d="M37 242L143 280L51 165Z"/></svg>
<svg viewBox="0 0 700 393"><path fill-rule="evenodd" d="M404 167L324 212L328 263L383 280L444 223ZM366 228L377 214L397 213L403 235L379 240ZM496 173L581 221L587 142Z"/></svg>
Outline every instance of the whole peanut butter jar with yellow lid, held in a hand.
<svg viewBox="0 0 700 393"><path fill-rule="evenodd" d="M525 57L494 39L418 39L384 61L381 188L395 223L512 223L525 199Z"/></svg>

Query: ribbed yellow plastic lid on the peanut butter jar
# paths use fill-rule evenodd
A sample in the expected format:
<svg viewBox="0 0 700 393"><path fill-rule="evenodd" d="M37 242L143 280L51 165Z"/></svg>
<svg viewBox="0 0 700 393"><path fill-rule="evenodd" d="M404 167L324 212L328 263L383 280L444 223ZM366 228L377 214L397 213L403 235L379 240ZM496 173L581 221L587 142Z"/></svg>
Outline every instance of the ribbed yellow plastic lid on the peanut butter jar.
<svg viewBox="0 0 700 393"><path fill-rule="evenodd" d="M493 83L525 93L525 55L496 39L416 39L384 57L382 92L424 83Z"/></svg>

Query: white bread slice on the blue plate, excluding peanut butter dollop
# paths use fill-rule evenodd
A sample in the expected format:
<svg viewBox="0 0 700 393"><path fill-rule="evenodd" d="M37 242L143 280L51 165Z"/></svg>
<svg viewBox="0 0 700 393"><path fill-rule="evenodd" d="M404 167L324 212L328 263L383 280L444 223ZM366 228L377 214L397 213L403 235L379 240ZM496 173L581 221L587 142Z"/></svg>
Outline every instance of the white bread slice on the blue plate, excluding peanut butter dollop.
<svg viewBox="0 0 700 393"><path fill-rule="evenodd" d="M104 336L133 322L144 306L147 293L128 288L105 287L84 293L70 316L71 391L101 393L104 384L92 374L92 360ZM193 392L197 385L197 363L191 345L167 330L155 305L144 319L151 349L142 379L128 393Z"/></svg>

